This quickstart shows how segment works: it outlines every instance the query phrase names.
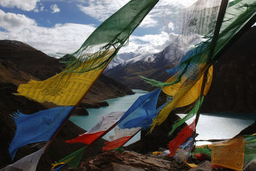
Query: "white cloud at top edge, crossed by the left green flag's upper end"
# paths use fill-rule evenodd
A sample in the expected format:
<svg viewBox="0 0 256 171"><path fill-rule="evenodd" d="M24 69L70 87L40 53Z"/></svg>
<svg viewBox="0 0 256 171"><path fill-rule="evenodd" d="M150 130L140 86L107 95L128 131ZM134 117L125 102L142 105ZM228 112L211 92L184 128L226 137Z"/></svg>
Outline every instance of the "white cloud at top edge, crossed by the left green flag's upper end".
<svg viewBox="0 0 256 171"><path fill-rule="evenodd" d="M177 8L180 8L180 6L184 8L195 3L195 1L197 0L161 0L141 22L140 27L156 27L159 26L159 22L164 22L164 20L168 20L169 23L170 18L172 18L171 16L177 11ZM104 21L128 2L129 0L89 0L88 5L79 4L78 7L87 15ZM168 16L168 18L163 16Z"/></svg>

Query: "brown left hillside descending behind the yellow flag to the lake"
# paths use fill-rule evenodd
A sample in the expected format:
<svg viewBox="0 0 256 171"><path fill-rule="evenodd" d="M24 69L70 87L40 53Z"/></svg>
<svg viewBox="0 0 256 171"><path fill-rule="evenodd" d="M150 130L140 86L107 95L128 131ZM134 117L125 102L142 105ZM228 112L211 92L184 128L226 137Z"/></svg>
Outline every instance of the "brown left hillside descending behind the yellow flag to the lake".
<svg viewBox="0 0 256 171"><path fill-rule="evenodd" d="M1 60L11 61L19 70L29 73L40 80L52 77L66 67L58 59L47 56L40 50L36 50L20 41L1 40L0 52ZM108 105L106 103L99 103L100 101L126 94L134 93L131 89L119 84L112 78L100 75L88 94L86 94L81 105L86 108L100 107L100 105Z"/></svg>

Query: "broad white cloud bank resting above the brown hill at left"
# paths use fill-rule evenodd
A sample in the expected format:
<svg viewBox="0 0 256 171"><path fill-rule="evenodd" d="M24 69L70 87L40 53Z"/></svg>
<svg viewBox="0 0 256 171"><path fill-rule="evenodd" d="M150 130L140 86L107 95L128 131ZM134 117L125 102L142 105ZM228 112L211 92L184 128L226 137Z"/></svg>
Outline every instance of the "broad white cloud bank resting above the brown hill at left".
<svg viewBox="0 0 256 171"><path fill-rule="evenodd" d="M1 27L0 39L18 40L46 54L56 52L72 53L76 51L95 30L92 25L56 24L54 27L39 27L28 17L15 13L4 13L0 10Z"/></svg>

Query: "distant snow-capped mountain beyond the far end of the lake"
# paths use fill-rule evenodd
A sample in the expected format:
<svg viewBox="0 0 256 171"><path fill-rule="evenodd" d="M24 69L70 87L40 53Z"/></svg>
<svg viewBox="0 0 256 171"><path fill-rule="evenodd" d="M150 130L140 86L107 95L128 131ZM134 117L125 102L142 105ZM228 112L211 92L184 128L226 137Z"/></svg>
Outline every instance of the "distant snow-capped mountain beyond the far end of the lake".
<svg viewBox="0 0 256 171"><path fill-rule="evenodd" d="M150 91L154 87L141 80L140 75L159 81L166 80L168 78L166 70L173 68L179 63L182 52L183 50L177 48L175 43L173 43L157 54L133 57L122 64L104 71L104 74L132 89Z"/></svg>

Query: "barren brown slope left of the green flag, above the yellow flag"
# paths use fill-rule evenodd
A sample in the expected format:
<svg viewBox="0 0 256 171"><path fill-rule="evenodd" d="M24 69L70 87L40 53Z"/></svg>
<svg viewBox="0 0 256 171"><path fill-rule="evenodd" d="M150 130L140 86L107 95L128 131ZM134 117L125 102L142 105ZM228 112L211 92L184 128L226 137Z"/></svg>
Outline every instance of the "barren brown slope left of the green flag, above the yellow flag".
<svg viewBox="0 0 256 171"><path fill-rule="evenodd" d="M41 80L52 77L65 68L65 64L59 63L58 59L21 41L1 40L0 52L0 59L12 61L21 70Z"/></svg>

